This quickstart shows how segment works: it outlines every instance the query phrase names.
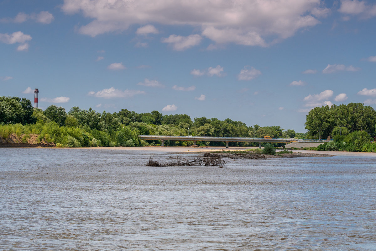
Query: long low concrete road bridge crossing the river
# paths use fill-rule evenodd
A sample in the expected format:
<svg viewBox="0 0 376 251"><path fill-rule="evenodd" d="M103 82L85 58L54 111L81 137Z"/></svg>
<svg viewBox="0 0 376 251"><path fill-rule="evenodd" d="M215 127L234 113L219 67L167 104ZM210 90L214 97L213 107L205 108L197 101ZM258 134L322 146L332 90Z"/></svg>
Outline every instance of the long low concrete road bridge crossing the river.
<svg viewBox="0 0 376 251"><path fill-rule="evenodd" d="M226 148L229 148L229 142L256 142L259 143L290 143L290 142L302 142L302 143L325 143L327 140L318 139L297 139L297 138L240 138L240 137L206 137L206 136L164 136L164 135L138 135L143 140L161 140L162 146L164 146L165 140L183 140L193 141L196 145L197 141L222 141L226 142Z"/></svg>

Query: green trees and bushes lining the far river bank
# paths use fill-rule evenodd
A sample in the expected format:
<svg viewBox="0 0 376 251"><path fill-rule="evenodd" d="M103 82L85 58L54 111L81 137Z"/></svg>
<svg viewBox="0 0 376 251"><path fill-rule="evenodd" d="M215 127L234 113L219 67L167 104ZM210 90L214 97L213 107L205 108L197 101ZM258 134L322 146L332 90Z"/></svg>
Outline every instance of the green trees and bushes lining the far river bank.
<svg viewBox="0 0 376 251"><path fill-rule="evenodd" d="M229 118L218 120L187 114L163 115L158 111L136 113L127 109L119 112L98 113L73 106L68 112L63 107L51 105L44 111L33 108L30 100L19 97L0 97L0 136L11 133L28 137L38 134L39 140L58 146L147 146L160 141L144 141L138 135L193 135L214 137L264 137L272 138L335 138L336 147L326 144L321 149L344 149L351 141L363 142L352 151L362 151L365 143L375 134L376 112L362 103L317 107L306 116L307 133L285 130L280 126L247 126ZM360 131L361 133L358 133ZM354 133L353 133L354 132ZM356 132L356 133L355 133ZM350 135L352 134L352 135ZM359 141L359 137L361 140ZM344 137L347 137L346 139ZM340 143L338 143L340 142ZM346 143L347 142L347 143ZM191 141L166 141L170 146L188 146ZM230 146L256 146L257 143L230 142ZM341 145L342 144L342 145ZM224 142L197 142L200 146L224 146ZM280 143L281 145L281 143ZM280 146L277 145L277 146ZM329 145L329 146L327 146ZM348 146L348 145L347 145ZM372 149L368 146L367 149ZM368 151L366 149L366 151ZM373 150L372 150L373 151Z"/></svg>

